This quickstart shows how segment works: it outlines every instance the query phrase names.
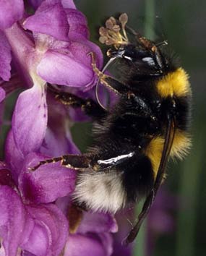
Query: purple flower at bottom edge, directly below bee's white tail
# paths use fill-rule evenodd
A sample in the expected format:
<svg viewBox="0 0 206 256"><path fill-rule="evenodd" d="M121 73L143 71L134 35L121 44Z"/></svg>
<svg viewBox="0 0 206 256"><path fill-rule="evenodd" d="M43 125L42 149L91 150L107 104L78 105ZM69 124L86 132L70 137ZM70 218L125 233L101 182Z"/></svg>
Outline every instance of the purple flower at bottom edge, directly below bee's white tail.
<svg viewBox="0 0 206 256"><path fill-rule="evenodd" d="M61 197L56 204L65 214L71 210L69 197ZM117 230L118 226L113 216L105 213L85 212L75 233L72 232L68 236L64 256L110 256L113 252L111 234Z"/></svg>

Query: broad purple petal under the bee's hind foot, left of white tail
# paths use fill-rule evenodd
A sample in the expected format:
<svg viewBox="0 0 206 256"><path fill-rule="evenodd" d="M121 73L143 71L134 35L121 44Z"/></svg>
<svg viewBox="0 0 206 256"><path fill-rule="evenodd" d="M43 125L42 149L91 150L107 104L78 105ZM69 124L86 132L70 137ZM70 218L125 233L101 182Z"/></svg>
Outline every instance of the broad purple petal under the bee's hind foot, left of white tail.
<svg viewBox="0 0 206 256"><path fill-rule="evenodd" d="M25 202L53 202L74 191L75 171L60 163L50 163L29 171L30 167L43 160L45 158L35 153L27 155L25 159L25 168L19 179L19 189Z"/></svg>

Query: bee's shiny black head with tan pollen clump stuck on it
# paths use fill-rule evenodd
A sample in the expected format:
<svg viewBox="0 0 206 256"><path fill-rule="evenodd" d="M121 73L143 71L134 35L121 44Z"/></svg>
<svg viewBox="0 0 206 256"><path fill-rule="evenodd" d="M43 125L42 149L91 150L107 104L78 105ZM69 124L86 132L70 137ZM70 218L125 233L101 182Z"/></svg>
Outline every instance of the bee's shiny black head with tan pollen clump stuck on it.
<svg viewBox="0 0 206 256"><path fill-rule="evenodd" d="M136 74L140 71L142 75L158 76L163 74L167 68L165 56L160 51L160 44L143 37L140 33L126 26L128 17L121 14L119 20L110 17L106 21L106 27L100 27L100 43L112 46L108 49L107 56L110 59L121 59L129 67L137 67ZM136 43L130 43L126 35L126 28L136 38Z"/></svg>

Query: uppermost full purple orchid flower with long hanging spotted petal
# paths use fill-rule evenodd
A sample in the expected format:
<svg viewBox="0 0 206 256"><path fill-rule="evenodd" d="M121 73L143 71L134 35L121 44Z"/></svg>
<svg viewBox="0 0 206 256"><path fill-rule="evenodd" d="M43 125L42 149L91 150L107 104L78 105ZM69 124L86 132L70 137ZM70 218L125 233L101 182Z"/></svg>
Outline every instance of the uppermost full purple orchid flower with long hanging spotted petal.
<svg viewBox="0 0 206 256"><path fill-rule="evenodd" d="M89 90L95 85L95 74L88 54L95 53L98 67L102 66L103 57L98 46L88 40L86 19L74 9L73 1L42 1L35 14L22 25L14 23L5 29L4 35L17 70L27 86L33 85L19 96L12 119L14 140L27 155L40 148L46 135L46 82Z"/></svg>

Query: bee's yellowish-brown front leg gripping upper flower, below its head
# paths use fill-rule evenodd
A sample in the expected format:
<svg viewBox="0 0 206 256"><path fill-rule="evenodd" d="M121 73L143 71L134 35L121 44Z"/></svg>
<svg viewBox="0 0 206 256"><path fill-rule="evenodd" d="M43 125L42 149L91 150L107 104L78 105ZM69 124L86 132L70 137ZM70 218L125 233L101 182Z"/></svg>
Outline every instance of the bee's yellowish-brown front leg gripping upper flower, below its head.
<svg viewBox="0 0 206 256"><path fill-rule="evenodd" d="M93 71L98 76L100 83L113 90L116 94L124 94L129 90L129 88L119 80L101 72L95 63L95 54L91 52L90 55L92 56Z"/></svg>

